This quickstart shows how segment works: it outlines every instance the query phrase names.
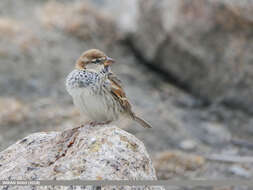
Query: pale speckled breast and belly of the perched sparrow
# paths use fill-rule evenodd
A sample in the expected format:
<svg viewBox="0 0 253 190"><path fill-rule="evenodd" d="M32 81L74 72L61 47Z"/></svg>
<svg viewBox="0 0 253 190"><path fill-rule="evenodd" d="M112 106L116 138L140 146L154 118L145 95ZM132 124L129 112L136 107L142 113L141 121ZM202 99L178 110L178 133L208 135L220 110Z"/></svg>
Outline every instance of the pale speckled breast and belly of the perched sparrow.
<svg viewBox="0 0 253 190"><path fill-rule="evenodd" d="M119 106L109 92L106 81L92 73L70 73L66 89L80 112L93 121L115 120Z"/></svg>

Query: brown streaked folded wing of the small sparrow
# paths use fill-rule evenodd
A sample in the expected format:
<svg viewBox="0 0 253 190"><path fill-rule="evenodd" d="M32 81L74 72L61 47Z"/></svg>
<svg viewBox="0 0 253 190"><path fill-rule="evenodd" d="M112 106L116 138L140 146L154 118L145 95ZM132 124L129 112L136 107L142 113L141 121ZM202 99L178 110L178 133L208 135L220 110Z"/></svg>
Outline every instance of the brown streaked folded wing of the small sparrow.
<svg viewBox="0 0 253 190"><path fill-rule="evenodd" d="M133 114L131 111L131 105L127 100L126 93L124 92L121 81L113 74L108 74L108 80L111 84L111 93L113 97L120 103L120 105L126 110L126 112Z"/></svg>

